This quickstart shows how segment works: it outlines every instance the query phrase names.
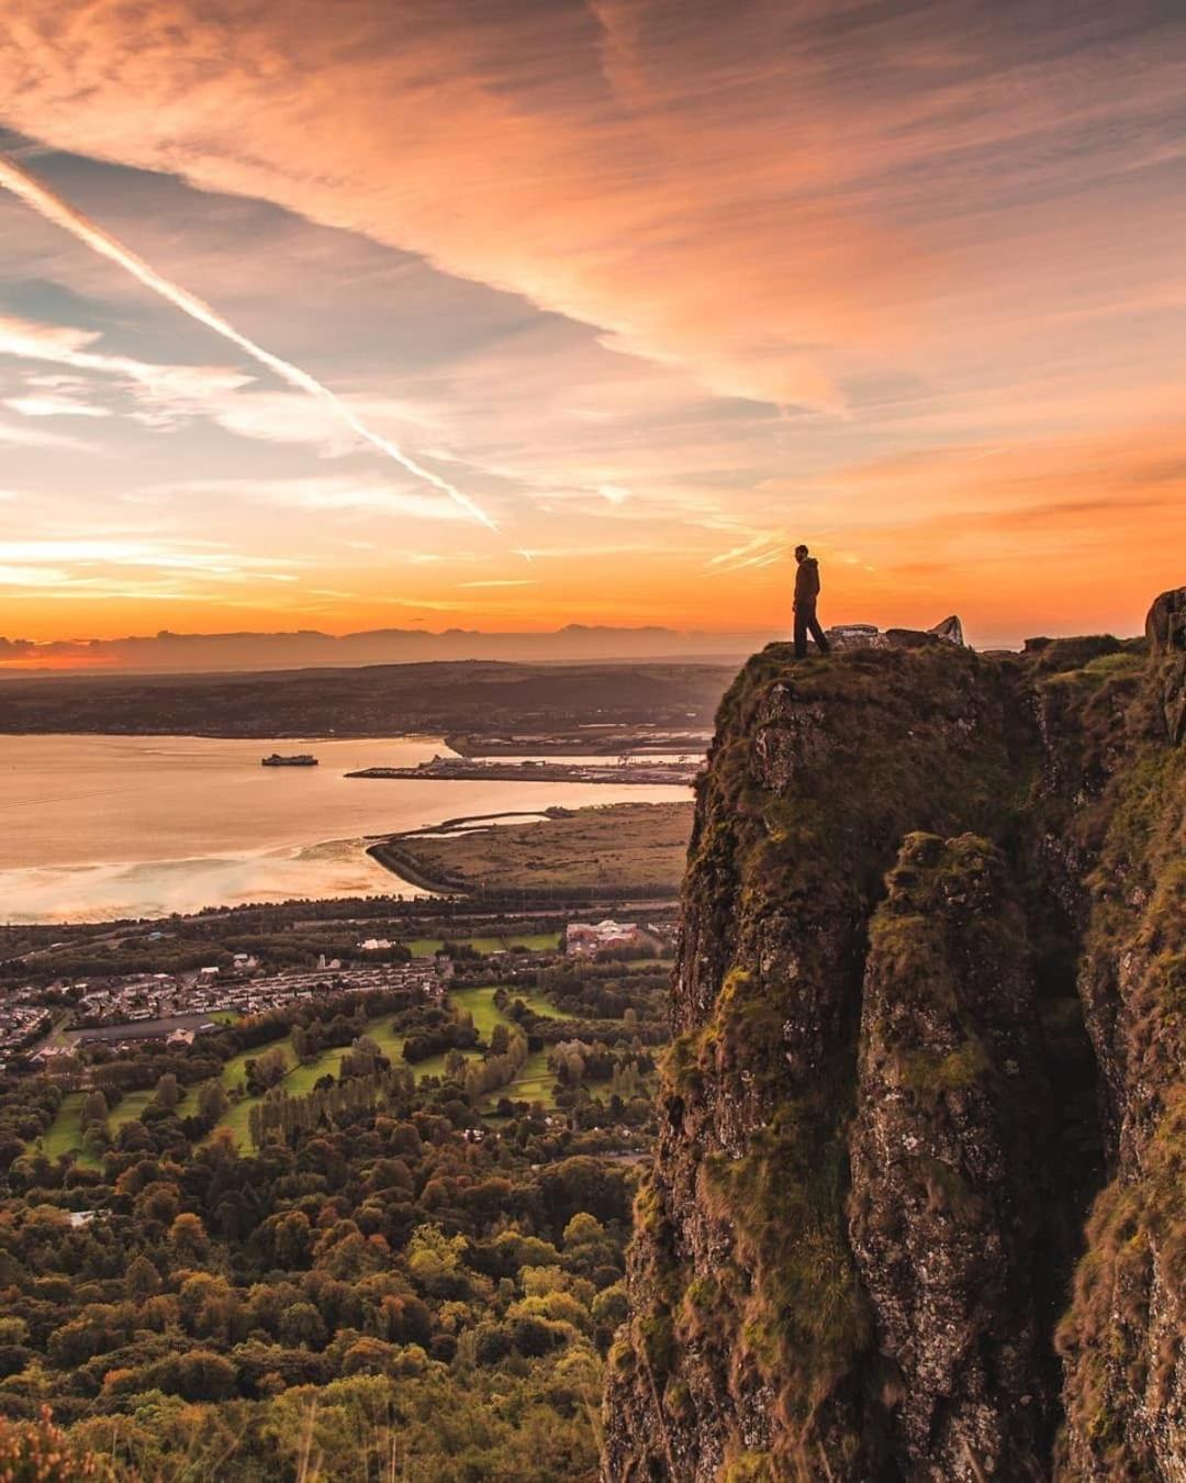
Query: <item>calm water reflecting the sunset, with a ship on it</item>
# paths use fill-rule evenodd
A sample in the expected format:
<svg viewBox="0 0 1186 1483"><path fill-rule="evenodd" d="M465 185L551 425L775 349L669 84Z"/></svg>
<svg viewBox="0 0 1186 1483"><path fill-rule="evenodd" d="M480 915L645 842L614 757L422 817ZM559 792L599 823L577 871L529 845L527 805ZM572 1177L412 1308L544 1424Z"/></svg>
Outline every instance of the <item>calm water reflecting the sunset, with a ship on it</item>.
<svg viewBox="0 0 1186 1483"><path fill-rule="evenodd" d="M311 752L319 765L261 767L271 752ZM449 755L439 737L0 736L0 921L421 896L366 854L374 836L471 814L691 796L666 786L347 777L437 753Z"/></svg>

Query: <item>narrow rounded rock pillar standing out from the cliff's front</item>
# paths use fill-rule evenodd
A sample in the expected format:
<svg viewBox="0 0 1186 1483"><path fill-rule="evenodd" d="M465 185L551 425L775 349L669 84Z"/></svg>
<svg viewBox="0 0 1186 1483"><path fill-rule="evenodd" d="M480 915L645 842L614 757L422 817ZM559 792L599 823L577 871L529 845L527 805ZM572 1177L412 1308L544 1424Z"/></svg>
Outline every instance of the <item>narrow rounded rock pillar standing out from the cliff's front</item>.
<svg viewBox="0 0 1186 1483"><path fill-rule="evenodd" d="M900 1373L916 1477L1032 1477L1048 1434L1032 1253L1051 1091L1026 927L1001 853L910 835L864 973L849 1240Z"/></svg>

